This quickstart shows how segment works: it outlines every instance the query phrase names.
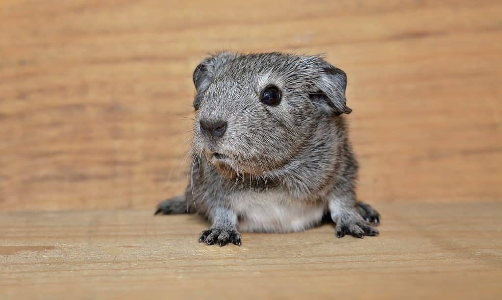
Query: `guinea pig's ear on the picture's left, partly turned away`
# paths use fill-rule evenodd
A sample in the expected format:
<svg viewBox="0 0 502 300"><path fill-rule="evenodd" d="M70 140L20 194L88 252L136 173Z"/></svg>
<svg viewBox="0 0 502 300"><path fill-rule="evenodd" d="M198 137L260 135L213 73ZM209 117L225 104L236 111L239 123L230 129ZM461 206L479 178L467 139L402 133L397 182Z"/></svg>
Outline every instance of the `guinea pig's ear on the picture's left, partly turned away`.
<svg viewBox="0 0 502 300"><path fill-rule="evenodd" d="M210 57L206 57L193 71L193 83L197 93L193 100L195 110L199 109L200 101L207 87L213 80L214 76L221 68L229 61L235 59L237 54L232 52L219 52Z"/></svg>

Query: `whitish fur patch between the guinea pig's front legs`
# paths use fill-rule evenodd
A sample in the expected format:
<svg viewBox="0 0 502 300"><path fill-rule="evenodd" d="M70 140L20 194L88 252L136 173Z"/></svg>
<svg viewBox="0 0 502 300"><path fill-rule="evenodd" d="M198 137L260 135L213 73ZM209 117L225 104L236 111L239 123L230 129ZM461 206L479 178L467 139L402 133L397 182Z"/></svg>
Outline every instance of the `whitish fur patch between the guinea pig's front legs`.
<svg viewBox="0 0 502 300"><path fill-rule="evenodd" d="M242 232L302 231L318 224L325 211L324 205L311 206L272 192L240 195L232 208Z"/></svg>

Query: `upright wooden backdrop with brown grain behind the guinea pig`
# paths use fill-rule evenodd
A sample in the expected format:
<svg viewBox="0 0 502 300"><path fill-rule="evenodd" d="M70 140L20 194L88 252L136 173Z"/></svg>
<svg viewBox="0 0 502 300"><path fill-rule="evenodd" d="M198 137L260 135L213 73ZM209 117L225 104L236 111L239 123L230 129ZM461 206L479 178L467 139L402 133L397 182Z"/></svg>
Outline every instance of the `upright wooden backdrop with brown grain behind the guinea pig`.
<svg viewBox="0 0 502 300"><path fill-rule="evenodd" d="M221 49L348 74L362 199L502 199L500 1L2 0L0 210L181 193L191 75Z"/></svg>

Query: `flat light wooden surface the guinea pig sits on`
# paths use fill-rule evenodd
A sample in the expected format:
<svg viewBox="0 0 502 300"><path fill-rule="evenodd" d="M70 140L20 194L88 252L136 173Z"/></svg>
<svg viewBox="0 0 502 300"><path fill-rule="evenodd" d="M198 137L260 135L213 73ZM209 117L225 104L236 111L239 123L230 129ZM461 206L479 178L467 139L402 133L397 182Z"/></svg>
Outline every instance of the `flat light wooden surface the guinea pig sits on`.
<svg viewBox="0 0 502 300"><path fill-rule="evenodd" d="M381 235L242 234L152 210L0 213L6 299L500 299L502 204L386 204Z"/></svg>

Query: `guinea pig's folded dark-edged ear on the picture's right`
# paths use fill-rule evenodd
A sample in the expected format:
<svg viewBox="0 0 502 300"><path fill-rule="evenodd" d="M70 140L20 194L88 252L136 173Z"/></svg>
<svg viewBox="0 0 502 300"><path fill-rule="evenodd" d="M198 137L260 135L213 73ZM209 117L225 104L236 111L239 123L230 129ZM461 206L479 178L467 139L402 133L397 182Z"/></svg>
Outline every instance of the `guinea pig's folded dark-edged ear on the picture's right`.
<svg viewBox="0 0 502 300"><path fill-rule="evenodd" d="M333 116L342 113L349 114L352 111L345 105L345 88L347 87L345 72L324 62L315 85L317 91L310 93L309 98L322 110Z"/></svg>

